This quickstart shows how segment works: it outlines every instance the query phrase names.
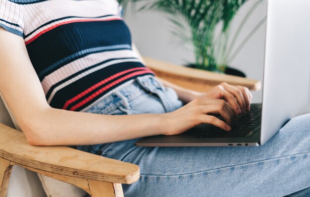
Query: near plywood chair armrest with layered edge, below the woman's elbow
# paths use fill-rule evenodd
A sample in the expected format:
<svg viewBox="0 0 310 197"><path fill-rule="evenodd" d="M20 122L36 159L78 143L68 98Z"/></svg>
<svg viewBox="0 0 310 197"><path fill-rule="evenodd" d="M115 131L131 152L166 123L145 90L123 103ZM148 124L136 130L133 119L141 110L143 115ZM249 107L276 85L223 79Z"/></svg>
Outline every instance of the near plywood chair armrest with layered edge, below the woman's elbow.
<svg viewBox="0 0 310 197"><path fill-rule="evenodd" d="M0 158L14 164L71 177L131 184L139 166L68 147L31 146L22 132L0 123Z"/></svg>

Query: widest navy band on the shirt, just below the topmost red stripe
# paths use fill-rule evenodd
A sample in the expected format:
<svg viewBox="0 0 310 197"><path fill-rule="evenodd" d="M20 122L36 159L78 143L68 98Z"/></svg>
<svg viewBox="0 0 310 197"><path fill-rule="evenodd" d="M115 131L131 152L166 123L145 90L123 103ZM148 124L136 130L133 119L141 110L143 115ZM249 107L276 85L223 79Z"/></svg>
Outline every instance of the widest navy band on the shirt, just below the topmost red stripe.
<svg viewBox="0 0 310 197"><path fill-rule="evenodd" d="M39 74L54 63L80 51L115 45L131 46L129 29L122 20L61 25L41 35L26 47L30 60Z"/></svg>

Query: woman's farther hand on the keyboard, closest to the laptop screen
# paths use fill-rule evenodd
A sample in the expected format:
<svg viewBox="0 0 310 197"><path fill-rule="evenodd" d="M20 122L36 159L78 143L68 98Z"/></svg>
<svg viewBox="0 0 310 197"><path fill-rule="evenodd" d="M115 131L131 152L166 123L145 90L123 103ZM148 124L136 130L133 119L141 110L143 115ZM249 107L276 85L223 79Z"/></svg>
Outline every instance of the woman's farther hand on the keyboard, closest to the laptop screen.
<svg viewBox="0 0 310 197"><path fill-rule="evenodd" d="M235 109L238 115L250 111L252 100L252 94L248 88L233 86L227 83L221 83L199 97L205 99L224 99Z"/></svg>

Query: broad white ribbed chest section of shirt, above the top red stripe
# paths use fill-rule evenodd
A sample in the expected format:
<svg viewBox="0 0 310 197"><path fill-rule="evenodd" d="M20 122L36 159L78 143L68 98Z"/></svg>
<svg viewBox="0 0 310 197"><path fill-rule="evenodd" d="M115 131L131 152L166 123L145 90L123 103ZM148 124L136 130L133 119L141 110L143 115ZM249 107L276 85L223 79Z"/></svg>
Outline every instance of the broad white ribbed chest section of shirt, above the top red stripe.
<svg viewBox="0 0 310 197"><path fill-rule="evenodd" d="M25 35L51 20L66 16L119 16L119 4L116 0L47 0L22 6L25 7L27 18L31 19L25 25Z"/></svg>

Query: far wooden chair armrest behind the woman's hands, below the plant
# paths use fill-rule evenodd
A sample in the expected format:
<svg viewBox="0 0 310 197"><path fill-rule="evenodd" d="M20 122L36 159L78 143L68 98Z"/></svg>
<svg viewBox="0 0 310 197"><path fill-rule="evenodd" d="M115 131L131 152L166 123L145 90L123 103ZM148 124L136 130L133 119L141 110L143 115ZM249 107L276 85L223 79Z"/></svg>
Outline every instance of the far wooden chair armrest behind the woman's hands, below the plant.
<svg viewBox="0 0 310 197"><path fill-rule="evenodd" d="M146 65L151 68L158 77L196 91L204 92L207 90L207 86L210 88L222 82L245 86L252 91L258 91L261 88L260 81L253 79L174 65L149 57L143 57L143 59ZM194 85L188 85L189 82ZM199 84L201 84L201 86L199 86Z"/></svg>

